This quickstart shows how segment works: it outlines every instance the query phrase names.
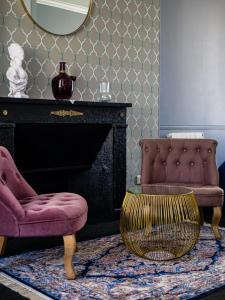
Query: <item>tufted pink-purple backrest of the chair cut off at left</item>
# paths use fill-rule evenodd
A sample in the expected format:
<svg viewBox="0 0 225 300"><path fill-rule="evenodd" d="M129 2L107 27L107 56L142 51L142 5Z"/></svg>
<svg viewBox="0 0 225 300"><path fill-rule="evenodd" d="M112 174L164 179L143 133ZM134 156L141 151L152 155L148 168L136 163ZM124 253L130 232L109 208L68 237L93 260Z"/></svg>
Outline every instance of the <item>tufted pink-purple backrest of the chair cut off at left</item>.
<svg viewBox="0 0 225 300"><path fill-rule="evenodd" d="M35 196L36 192L18 171L9 151L0 146L0 208L6 213L23 217L24 210L20 200Z"/></svg>

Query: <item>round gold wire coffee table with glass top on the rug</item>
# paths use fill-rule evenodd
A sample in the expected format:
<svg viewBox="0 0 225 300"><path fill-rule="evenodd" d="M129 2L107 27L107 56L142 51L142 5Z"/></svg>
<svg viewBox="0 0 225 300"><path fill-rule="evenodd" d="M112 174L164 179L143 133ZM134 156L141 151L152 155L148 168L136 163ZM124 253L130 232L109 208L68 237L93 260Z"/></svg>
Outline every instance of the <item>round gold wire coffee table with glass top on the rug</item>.
<svg viewBox="0 0 225 300"><path fill-rule="evenodd" d="M120 232L134 254L152 260L181 257L197 243L199 209L193 191L175 186L148 186L127 192Z"/></svg>

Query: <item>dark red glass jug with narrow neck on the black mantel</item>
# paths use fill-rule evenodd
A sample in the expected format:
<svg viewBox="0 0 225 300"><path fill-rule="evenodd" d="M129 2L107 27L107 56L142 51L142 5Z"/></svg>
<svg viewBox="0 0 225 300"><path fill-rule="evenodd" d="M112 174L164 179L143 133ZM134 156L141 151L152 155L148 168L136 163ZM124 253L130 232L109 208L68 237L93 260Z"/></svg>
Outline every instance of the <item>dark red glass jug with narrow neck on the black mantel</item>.
<svg viewBox="0 0 225 300"><path fill-rule="evenodd" d="M55 99L67 100L73 95L73 82L76 76L66 73L66 63L59 63L59 74L52 79L52 93Z"/></svg>

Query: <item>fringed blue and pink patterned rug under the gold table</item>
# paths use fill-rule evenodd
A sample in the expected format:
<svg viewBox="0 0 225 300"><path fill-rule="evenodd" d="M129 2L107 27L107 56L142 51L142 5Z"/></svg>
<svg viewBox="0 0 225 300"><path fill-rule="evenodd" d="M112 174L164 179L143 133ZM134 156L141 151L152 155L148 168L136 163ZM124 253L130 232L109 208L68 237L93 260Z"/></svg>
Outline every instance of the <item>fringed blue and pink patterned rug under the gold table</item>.
<svg viewBox="0 0 225 300"><path fill-rule="evenodd" d="M65 279L63 247L0 259L0 269L42 293L75 299L191 299L225 286L225 230L216 241L204 226L196 247L180 259L154 262L125 248L120 235L78 243L77 279Z"/></svg>

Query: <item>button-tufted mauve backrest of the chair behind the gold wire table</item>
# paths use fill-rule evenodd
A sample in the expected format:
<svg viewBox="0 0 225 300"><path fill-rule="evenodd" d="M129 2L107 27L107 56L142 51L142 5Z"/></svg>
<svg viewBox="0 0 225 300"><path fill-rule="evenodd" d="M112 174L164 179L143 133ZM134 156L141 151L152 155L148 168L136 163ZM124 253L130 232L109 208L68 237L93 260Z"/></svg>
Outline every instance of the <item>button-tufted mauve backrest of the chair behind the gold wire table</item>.
<svg viewBox="0 0 225 300"><path fill-rule="evenodd" d="M142 184L168 182L218 185L211 139L143 139Z"/></svg>

